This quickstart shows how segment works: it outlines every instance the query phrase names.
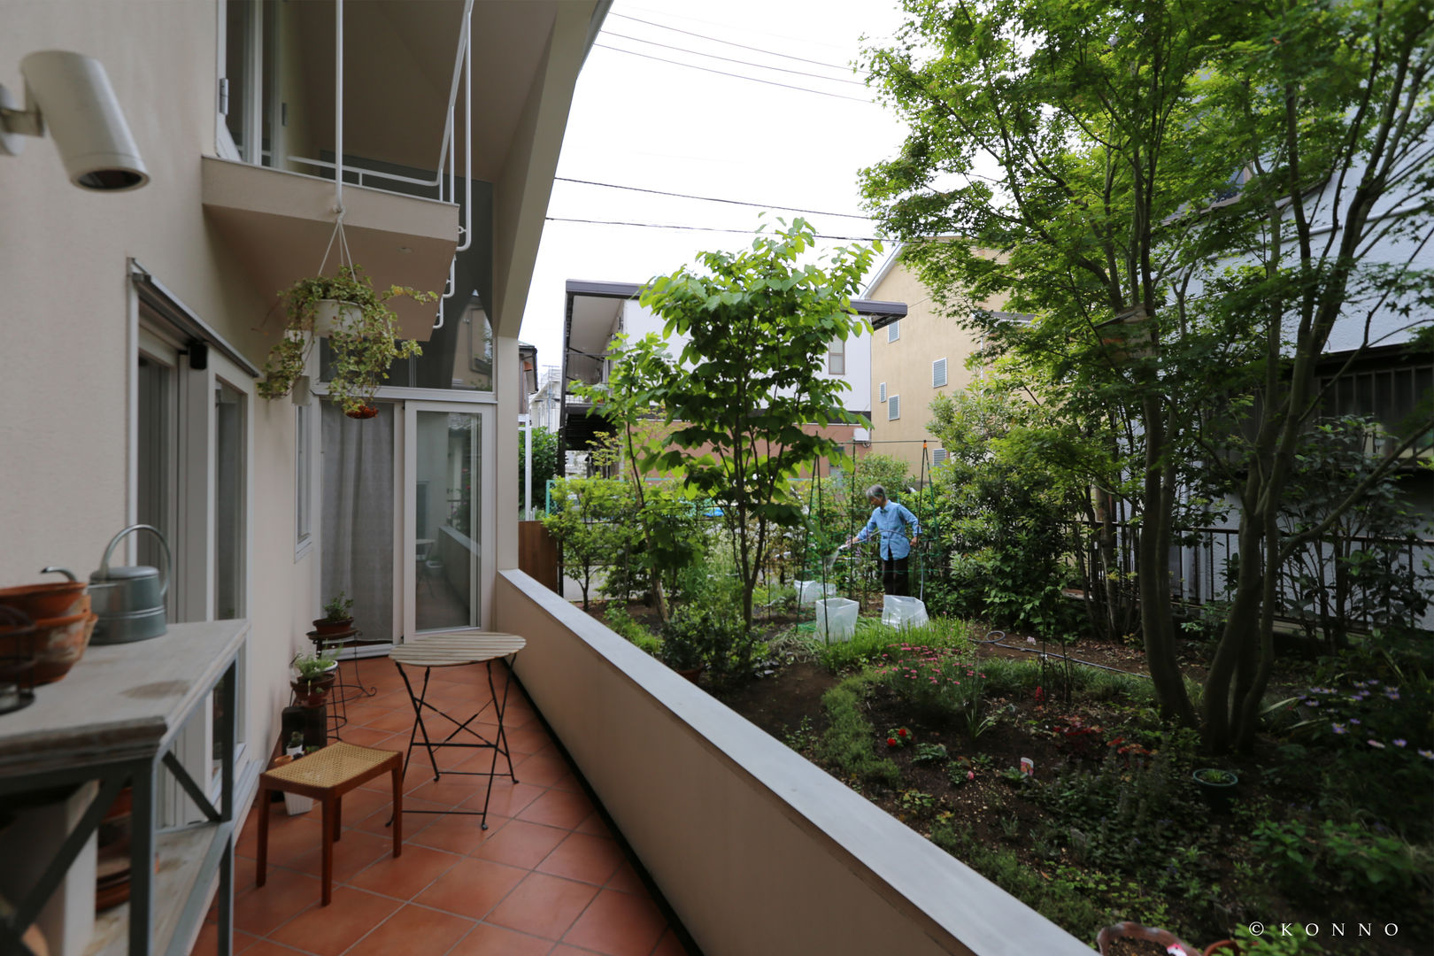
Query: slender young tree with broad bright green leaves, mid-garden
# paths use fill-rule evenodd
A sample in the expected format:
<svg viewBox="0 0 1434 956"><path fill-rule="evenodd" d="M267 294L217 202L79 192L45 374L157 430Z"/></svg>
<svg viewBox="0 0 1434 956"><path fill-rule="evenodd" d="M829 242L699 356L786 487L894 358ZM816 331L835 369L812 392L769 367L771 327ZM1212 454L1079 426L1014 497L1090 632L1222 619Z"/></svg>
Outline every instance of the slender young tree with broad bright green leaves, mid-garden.
<svg viewBox="0 0 1434 956"><path fill-rule="evenodd" d="M648 396L673 429L644 466L680 470L721 507L749 628L773 529L802 523L789 479L823 457L845 460L837 441L803 426L860 421L842 407L849 386L819 373L832 343L863 325L850 300L880 247L840 247L825 268L799 264L815 238L796 219L759 232L749 249L701 254L695 268L654 278L640 298L665 320L667 337L688 340Z"/></svg>

